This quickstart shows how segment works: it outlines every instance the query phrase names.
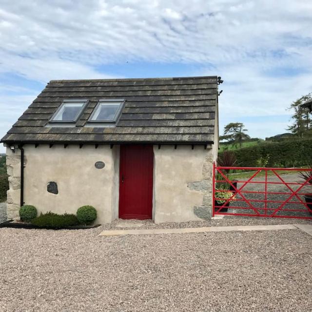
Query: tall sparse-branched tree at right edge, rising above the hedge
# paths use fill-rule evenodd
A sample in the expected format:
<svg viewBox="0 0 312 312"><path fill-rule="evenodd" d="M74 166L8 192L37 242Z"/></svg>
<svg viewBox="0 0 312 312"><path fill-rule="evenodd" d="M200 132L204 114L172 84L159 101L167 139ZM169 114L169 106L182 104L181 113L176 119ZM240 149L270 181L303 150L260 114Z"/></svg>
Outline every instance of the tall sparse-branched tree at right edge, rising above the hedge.
<svg viewBox="0 0 312 312"><path fill-rule="evenodd" d="M312 129L312 120L309 114L309 110L301 107L303 103L310 99L312 99L312 93L309 93L306 96L293 101L291 106L288 108L289 110L293 111L293 115L292 125L290 125L287 130L301 138L305 135L308 135Z"/></svg>

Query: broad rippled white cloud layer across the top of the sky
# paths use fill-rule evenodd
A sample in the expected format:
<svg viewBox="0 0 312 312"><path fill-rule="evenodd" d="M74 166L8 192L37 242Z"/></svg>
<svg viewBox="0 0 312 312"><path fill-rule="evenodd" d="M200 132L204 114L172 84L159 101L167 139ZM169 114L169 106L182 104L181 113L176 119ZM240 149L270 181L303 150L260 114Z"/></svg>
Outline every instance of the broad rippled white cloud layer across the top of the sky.
<svg viewBox="0 0 312 312"><path fill-rule="evenodd" d="M3 1L2 1L3 2ZM8 53L79 59L229 62L311 39L307 1L4 1ZM309 61L311 63L311 61ZM311 65L311 64L310 64Z"/></svg>

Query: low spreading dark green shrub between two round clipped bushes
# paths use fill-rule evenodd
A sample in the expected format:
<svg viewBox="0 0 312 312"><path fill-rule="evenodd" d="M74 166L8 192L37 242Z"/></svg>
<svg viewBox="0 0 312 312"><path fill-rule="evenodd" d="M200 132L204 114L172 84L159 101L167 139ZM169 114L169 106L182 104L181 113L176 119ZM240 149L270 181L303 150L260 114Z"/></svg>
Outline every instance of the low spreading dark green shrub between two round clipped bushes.
<svg viewBox="0 0 312 312"><path fill-rule="evenodd" d="M43 228L65 228L69 226L78 225L79 221L76 215L63 214L58 215L55 213L48 212L41 214L37 218L31 220L31 224L37 225Z"/></svg>

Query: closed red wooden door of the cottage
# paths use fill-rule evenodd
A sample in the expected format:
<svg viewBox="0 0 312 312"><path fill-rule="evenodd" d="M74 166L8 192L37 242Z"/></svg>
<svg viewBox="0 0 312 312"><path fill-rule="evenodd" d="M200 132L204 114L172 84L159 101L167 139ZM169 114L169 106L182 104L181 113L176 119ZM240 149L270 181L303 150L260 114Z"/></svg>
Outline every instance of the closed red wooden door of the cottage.
<svg viewBox="0 0 312 312"><path fill-rule="evenodd" d="M152 218L153 167L153 145L120 145L119 218Z"/></svg>

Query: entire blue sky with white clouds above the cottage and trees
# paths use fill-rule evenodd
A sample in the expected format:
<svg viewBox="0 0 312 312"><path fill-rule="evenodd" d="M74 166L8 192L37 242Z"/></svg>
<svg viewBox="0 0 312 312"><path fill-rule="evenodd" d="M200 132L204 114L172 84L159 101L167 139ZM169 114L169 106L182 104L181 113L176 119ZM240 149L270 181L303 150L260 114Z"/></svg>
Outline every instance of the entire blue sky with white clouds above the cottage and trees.
<svg viewBox="0 0 312 312"><path fill-rule="evenodd" d="M0 2L0 137L50 79L218 75L220 133L262 138L312 91L311 1Z"/></svg>

